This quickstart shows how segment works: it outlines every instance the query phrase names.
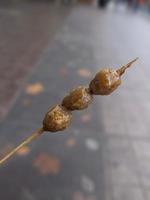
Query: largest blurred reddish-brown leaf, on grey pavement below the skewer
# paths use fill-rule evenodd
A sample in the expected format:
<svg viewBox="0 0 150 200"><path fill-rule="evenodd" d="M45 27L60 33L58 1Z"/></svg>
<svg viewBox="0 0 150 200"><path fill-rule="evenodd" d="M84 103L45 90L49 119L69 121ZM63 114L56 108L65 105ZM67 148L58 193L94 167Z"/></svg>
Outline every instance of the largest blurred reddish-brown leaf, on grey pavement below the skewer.
<svg viewBox="0 0 150 200"><path fill-rule="evenodd" d="M57 157L45 153L41 153L33 161L33 165L43 175L54 174L57 175L60 171L60 161Z"/></svg>

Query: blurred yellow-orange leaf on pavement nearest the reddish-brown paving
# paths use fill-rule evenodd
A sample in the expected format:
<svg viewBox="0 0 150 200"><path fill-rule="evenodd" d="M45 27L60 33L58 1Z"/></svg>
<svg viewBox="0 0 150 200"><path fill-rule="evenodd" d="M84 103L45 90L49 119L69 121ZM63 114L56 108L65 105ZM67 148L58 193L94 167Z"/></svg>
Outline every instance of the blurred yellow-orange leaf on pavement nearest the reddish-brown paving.
<svg viewBox="0 0 150 200"><path fill-rule="evenodd" d="M42 83L34 83L34 84L29 84L27 85L25 91L29 95L37 95L41 92L43 92L44 86Z"/></svg>

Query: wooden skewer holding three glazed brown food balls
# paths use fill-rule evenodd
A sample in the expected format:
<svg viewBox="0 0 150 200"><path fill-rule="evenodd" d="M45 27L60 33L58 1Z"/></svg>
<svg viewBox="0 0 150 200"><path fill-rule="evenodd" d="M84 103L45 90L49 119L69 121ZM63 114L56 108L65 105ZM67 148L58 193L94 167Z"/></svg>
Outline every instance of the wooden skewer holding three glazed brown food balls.
<svg viewBox="0 0 150 200"><path fill-rule="evenodd" d="M93 95L109 95L121 84L121 76L126 69L137 61L138 58L130 61L119 69L105 68L100 70L90 82L89 87L80 86L72 90L60 105L55 105L46 113L43 120L43 127L32 133L17 147L11 150L0 160L0 165L11 158L18 150L37 139L45 131L57 132L66 129L72 118L72 111L83 110L92 103Z"/></svg>

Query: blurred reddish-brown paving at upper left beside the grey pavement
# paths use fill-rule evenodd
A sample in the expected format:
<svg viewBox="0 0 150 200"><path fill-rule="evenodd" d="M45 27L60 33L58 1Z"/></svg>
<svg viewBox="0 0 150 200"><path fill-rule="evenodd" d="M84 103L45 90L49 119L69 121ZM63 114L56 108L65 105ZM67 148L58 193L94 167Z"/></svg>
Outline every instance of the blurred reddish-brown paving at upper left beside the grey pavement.
<svg viewBox="0 0 150 200"><path fill-rule="evenodd" d="M69 11L40 2L0 4L0 120Z"/></svg>

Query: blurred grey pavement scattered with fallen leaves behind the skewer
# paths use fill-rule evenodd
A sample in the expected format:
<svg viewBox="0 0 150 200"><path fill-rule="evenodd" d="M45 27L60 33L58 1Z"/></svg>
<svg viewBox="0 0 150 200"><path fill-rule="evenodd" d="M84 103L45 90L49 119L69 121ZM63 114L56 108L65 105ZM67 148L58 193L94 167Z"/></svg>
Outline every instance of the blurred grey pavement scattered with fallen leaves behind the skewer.
<svg viewBox="0 0 150 200"><path fill-rule="evenodd" d="M0 199L149 200L149 20L131 11L74 7L0 127L1 155L41 127L44 113L96 71L140 57L110 96L74 112L0 167Z"/></svg>

